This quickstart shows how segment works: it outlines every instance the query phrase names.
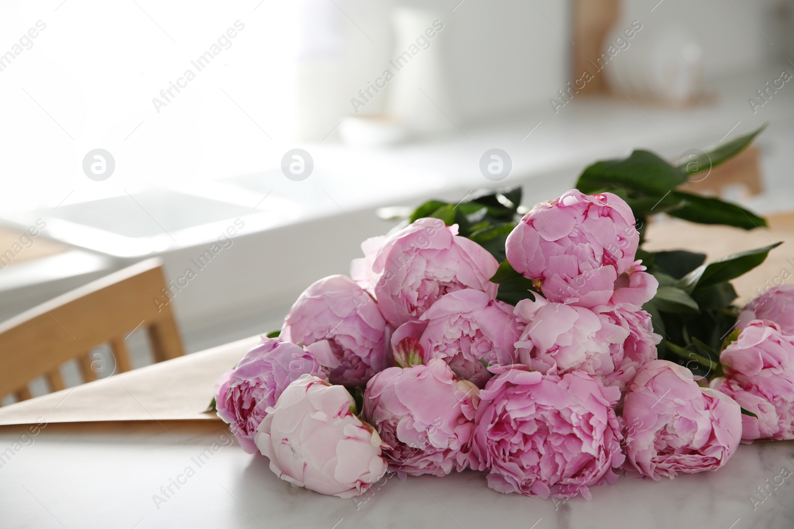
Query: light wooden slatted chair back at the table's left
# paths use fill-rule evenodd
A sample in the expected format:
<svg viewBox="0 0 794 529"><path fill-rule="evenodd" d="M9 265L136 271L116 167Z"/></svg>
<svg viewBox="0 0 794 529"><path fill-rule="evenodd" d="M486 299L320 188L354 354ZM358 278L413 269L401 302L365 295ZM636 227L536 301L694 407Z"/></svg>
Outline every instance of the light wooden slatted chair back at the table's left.
<svg viewBox="0 0 794 529"><path fill-rule="evenodd" d="M114 372L131 369L125 336L146 328L155 362L183 355L160 259L147 259L0 323L0 397L31 397L44 375L64 389L59 366L78 359L83 382L97 378L90 351L108 344Z"/></svg>

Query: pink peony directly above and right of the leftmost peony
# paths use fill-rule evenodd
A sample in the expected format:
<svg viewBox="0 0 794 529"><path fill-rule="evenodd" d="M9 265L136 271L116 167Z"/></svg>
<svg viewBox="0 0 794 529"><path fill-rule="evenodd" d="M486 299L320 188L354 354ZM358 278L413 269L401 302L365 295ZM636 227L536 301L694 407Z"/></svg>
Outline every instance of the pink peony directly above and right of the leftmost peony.
<svg viewBox="0 0 794 529"><path fill-rule="evenodd" d="M378 305L344 275L331 275L307 288L287 314L280 337L318 343L313 352L330 350L333 363L321 363L329 368L333 384L364 385L391 362L388 329Z"/></svg>

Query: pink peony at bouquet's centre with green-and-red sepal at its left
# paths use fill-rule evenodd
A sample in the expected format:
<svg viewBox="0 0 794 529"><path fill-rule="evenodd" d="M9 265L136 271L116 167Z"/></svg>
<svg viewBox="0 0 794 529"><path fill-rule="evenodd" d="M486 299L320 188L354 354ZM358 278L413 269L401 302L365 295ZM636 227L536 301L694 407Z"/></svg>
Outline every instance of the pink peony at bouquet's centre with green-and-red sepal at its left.
<svg viewBox="0 0 794 529"><path fill-rule="evenodd" d="M508 365L517 361L515 342L521 325L513 307L480 290L464 289L446 294L418 322L395 331L395 339L414 333L424 358L442 358L458 378L481 388L491 378L483 362Z"/></svg>

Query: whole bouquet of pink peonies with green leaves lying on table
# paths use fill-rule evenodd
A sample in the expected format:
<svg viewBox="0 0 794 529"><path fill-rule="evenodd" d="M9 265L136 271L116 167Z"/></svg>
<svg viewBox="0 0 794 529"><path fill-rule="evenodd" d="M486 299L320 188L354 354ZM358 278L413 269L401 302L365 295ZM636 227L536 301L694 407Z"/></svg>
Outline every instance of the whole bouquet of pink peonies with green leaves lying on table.
<svg viewBox="0 0 794 529"><path fill-rule="evenodd" d="M520 190L426 202L350 277L301 294L218 381L218 416L283 480L343 498L387 472L470 469L501 493L589 500L620 474L717 470L740 441L794 439L794 288L740 311L729 282L772 247L707 265L640 247L660 205L764 224L675 190L702 169L635 151L518 221Z"/></svg>

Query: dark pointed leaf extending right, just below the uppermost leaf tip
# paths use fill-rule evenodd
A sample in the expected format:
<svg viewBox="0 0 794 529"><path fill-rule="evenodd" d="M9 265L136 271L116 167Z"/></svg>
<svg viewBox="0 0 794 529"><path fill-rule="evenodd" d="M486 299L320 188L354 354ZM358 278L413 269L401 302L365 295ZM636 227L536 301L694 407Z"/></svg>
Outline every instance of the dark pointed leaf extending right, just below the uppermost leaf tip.
<svg viewBox="0 0 794 529"><path fill-rule="evenodd" d="M680 207L667 211L670 217L698 224L725 224L746 230L766 226L764 217L719 198L701 197L681 191L673 191L670 196L680 201Z"/></svg>

